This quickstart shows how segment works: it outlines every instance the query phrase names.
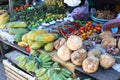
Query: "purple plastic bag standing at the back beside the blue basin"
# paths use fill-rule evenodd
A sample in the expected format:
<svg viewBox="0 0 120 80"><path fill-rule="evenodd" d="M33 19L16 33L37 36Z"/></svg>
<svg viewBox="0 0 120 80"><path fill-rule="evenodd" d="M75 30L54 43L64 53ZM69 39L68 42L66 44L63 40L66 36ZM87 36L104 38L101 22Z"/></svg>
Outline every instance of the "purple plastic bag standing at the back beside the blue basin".
<svg viewBox="0 0 120 80"><path fill-rule="evenodd" d="M81 7L75 8L72 13L72 17L78 20L88 20L89 19L89 3L85 0L85 3Z"/></svg>

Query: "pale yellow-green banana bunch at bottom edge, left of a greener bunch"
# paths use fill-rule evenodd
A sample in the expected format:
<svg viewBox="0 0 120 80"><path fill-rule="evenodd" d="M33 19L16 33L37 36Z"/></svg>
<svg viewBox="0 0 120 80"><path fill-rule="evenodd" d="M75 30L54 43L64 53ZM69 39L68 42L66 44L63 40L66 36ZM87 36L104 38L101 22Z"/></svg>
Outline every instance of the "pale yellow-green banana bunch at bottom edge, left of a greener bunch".
<svg viewBox="0 0 120 80"><path fill-rule="evenodd" d="M48 69L46 69L46 68L41 68L41 69L35 71L35 74L38 77L38 80L49 80L47 70Z"/></svg>

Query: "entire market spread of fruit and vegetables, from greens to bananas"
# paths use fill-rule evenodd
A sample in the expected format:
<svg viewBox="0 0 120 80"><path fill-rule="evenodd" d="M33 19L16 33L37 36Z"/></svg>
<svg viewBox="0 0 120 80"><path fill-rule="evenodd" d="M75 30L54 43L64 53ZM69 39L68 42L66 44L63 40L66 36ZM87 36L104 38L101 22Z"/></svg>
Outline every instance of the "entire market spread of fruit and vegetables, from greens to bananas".
<svg viewBox="0 0 120 80"><path fill-rule="evenodd" d="M28 6L21 6L20 10L16 7L10 20L6 11L0 12L0 28L6 27L14 36L14 44L30 53L17 58L18 66L33 73L37 80L81 80L73 78L79 67L83 73L91 74L99 71L99 67L109 69L115 64L120 39L111 31L103 32L102 24L67 20L63 0L44 0L40 5ZM98 11L95 16L113 18L113 15L101 17L100 14Z"/></svg>

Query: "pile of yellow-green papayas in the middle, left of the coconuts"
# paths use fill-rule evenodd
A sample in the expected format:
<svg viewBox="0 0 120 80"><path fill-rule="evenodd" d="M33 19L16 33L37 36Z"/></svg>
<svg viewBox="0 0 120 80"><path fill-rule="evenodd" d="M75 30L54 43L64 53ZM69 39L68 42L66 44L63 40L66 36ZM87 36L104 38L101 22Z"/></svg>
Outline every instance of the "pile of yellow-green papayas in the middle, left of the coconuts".
<svg viewBox="0 0 120 80"><path fill-rule="evenodd" d="M28 52L38 50L42 47L44 50L50 52L54 49L53 42L57 38L57 33L48 33L48 31L43 29L32 30L21 37L18 45L26 48Z"/></svg>

